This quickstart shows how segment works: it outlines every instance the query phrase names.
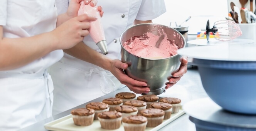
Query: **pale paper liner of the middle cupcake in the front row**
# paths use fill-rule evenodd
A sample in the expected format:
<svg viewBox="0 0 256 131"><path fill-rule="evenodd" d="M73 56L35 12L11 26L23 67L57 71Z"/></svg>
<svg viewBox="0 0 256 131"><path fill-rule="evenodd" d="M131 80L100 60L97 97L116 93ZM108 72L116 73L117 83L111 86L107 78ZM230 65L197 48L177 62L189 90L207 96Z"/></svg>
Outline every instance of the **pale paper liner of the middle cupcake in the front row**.
<svg viewBox="0 0 256 131"><path fill-rule="evenodd" d="M103 119L98 117L98 119L103 129L118 129L122 121L122 117L116 119Z"/></svg>

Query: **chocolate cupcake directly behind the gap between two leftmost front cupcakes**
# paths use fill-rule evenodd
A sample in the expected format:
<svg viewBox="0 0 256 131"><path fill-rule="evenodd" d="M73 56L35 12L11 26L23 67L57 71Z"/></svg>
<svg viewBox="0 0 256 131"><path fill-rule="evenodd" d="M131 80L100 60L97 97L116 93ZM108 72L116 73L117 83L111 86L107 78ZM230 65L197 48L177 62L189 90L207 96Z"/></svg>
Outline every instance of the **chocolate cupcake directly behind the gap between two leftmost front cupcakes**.
<svg viewBox="0 0 256 131"><path fill-rule="evenodd" d="M98 114L109 111L109 106L108 104L105 104L103 102L91 102L86 105L86 108L94 109L95 110L95 115L94 115L94 120L98 120Z"/></svg>

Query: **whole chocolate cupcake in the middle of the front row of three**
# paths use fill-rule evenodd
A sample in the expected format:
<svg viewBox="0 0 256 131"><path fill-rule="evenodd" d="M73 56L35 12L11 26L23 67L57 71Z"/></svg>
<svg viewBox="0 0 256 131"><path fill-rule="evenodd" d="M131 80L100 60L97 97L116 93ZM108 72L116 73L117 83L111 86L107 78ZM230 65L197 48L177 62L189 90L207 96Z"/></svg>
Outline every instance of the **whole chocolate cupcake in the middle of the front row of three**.
<svg viewBox="0 0 256 131"><path fill-rule="evenodd" d="M99 123L103 129L118 129L121 126L122 113L107 111L98 114Z"/></svg>

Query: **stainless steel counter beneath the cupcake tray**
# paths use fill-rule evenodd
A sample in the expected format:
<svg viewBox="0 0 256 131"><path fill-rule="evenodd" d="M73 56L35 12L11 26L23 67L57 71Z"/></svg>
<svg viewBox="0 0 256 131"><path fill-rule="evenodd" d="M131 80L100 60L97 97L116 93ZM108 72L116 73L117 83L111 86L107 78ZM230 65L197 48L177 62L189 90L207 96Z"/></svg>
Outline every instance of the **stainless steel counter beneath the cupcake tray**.
<svg viewBox="0 0 256 131"><path fill-rule="evenodd" d="M119 89L115 92L111 92L109 94L106 94L102 97L99 97L97 99L94 99L93 101L89 102L101 102L103 99L109 98L109 97L115 97L115 94L118 92L131 92L127 87L124 87L122 89ZM140 96L140 94L138 94ZM207 94L205 93L202 83L200 80L199 73L196 68L190 67L187 71L187 73L180 79L177 84L175 84L173 87L168 89L165 93L160 94L160 97L177 97L182 100L182 104L185 104L188 101L207 97ZM80 106L77 106L76 108L85 107L86 104L89 102L86 102ZM44 128L44 124L48 123L50 121L56 120L58 118L62 118L63 116L67 116L70 114L72 109L65 111L63 113L57 114L55 116L52 116L51 118L47 118L43 121L40 121L38 123L35 123L31 126L28 126L27 128L21 129L20 131L47 131ZM160 129L160 131L195 131L195 125L189 120L189 116L187 114L184 114L180 116L175 121L171 122L167 126Z"/></svg>

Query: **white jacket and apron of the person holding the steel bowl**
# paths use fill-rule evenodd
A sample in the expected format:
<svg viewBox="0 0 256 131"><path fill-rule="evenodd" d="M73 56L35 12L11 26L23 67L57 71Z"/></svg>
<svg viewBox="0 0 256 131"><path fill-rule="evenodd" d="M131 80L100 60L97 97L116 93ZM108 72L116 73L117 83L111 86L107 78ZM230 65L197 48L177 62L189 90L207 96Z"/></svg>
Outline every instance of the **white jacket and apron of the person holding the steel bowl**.
<svg viewBox="0 0 256 131"><path fill-rule="evenodd" d="M97 5L104 11L101 21L108 42L106 56L111 59L120 59L119 37L133 25L135 19L152 20L166 12L163 0L98 0ZM66 8L57 5L58 11L63 10L62 7ZM83 42L101 52L90 36L85 37ZM111 72L66 53L51 67L50 74L54 81L53 114L124 87Z"/></svg>

